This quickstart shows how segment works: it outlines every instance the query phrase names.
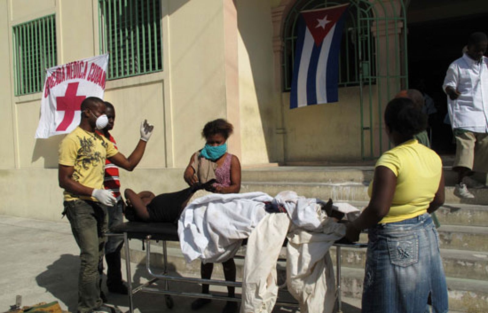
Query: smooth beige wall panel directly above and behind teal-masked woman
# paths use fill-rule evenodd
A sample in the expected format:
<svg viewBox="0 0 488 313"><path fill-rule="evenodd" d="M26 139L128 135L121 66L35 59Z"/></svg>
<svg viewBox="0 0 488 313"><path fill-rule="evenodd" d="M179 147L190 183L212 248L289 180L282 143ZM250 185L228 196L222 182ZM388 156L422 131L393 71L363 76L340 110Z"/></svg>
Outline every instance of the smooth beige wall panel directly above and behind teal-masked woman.
<svg viewBox="0 0 488 313"><path fill-rule="evenodd" d="M207 121L226 117L223 1L169 1L170 122L174 164L201 149Z"/></svg>

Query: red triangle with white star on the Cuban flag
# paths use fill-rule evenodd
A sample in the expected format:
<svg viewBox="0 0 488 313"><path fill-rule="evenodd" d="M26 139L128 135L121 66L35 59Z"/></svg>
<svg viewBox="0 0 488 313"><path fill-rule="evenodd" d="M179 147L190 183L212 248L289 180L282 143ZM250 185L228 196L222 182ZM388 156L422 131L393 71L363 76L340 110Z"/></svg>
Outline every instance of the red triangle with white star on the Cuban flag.
<svg viewBox="0 0 488 313"><path fill-rule="evenodd" d="M329 33L332 26L337 23L349 4L341 4L325 9L302 11L305 24L312 34L315 44L320 46L322 40Z"/></svg>

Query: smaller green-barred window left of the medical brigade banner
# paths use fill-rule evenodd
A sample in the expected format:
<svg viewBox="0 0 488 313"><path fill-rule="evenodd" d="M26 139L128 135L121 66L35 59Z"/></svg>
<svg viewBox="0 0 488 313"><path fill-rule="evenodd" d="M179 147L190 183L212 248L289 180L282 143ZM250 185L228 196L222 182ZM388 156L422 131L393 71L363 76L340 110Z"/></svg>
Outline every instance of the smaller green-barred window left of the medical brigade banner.
<svg viewBox="0 0 488 313"><path fill-rule="evenodd" d="M13 27L15 96L41 92L45 69L56 65L55 19L53 14Z"/></svg>

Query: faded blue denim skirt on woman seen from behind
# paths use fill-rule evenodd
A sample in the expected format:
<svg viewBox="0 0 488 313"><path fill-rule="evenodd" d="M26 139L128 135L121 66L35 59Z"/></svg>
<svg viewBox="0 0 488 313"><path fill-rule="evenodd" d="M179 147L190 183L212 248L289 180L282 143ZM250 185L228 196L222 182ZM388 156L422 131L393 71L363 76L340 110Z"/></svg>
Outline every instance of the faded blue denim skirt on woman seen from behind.
<svg viewBox="0 0 488 313"><path fill-rule="evenodd" d="M429 214L368 230L362 312L448 311L439 235Z"/></svg>

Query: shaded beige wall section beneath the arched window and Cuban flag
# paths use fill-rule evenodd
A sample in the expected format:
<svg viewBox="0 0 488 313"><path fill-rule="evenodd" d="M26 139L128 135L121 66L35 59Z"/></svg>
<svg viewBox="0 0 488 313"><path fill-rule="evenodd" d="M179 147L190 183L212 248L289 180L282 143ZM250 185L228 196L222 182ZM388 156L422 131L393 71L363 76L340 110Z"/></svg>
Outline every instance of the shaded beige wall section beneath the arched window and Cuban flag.
<svg viewBox="0 0 488 313"><path fill-rule="evenodd" d="M367 93L364 98L365 103L368 103ZM361 159L359 87L339 88L339 102L292 110L289 109L290 93L283 93L282 106L286 129L286 160L289 164ZM374 127L377 128L375 123ZM369 145L369 141L366 145Z"/></svg>

